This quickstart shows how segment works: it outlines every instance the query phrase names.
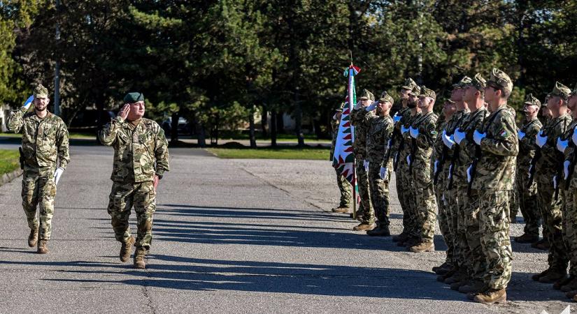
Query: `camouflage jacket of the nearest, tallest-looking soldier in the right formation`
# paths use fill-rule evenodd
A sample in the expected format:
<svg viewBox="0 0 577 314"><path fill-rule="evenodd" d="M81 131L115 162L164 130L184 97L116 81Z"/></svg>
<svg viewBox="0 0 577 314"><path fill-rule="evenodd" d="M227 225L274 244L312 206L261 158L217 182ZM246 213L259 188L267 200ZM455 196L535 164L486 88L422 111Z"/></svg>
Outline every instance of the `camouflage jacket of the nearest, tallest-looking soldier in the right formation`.
<svg viewBox="0 0 577 314"><path fill-rule="evenodd" d="M472 188L513 190L519 142L511 107L499 107L477 130L487 136L480 141L480 158Z"/></svg>

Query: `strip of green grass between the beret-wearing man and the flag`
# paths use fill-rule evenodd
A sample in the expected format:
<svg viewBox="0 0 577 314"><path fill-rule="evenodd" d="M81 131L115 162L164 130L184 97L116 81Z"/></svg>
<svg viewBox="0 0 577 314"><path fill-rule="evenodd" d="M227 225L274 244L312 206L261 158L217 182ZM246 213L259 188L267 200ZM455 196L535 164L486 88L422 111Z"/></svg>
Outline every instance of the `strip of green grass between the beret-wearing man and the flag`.
<svg viewBox="0 0 577 314"><path fill-rule="evenodd" d="M311 159L329 160L330 149L259 148L259 149L207 149L219 158L244 159Z"/></svg>

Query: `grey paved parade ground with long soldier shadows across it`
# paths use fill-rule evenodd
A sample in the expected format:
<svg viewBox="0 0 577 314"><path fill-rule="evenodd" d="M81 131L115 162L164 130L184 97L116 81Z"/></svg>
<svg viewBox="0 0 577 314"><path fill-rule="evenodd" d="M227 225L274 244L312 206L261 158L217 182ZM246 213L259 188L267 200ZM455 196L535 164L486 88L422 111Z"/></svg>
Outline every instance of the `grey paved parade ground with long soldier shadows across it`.
<svg viewBox="0 0 577 314"><path fill-rule="evenodd" d="M27 246L20 178L0 186L1 313L560 313L573 306L531 280L547 263L528 244L513 242L508 303L475 304L436 281L431 267L446 248L438 230L436 252L409 253L390 237L353 232L354 220L329 212L339 192L329 161L225 160L201 149L171 149L147 269L136 270L118 259L106 212L112 154L71 146L48 255ZM391 198L398 234L394 184ZM511 235L521 230L512 225Z"/></svg>

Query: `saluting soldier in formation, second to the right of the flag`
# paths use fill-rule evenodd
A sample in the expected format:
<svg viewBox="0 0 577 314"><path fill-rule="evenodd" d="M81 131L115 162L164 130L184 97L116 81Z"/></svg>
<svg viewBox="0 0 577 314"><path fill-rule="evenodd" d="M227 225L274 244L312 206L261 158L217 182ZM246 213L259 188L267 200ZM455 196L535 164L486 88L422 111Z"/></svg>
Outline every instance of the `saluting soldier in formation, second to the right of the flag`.
<svg viewBox="0 0 577 314"><path fill-rule="evenodd" d="M392 170L392 166L389 166L389 160L385 161L385 150L393 130L392 118L389 116L392 103L392 97L384 91L378 102L364 110L366 117L364 124L367 125L366 154L369 159L369 186L373 209L378 220L377 227L366 232L370 236L390 236L389 169ZM376 108L376 116L371 114L374 108Z"/></svg>

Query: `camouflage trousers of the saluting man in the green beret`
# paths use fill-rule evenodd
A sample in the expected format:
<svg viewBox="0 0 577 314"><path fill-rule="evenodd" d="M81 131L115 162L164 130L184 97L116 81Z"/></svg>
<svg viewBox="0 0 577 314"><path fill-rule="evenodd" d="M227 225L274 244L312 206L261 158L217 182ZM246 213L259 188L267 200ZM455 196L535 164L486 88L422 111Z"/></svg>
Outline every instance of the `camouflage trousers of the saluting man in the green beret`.
<svg viewBox="0 0 577 314"><path fill-rule="evenodd" d="M108 214L117 241L129 241L128 218L131 208L136 212L136 247L150 249L152 241L152 214L156 210L156 191L152 181L140 183L113 181Z"/></svg>

